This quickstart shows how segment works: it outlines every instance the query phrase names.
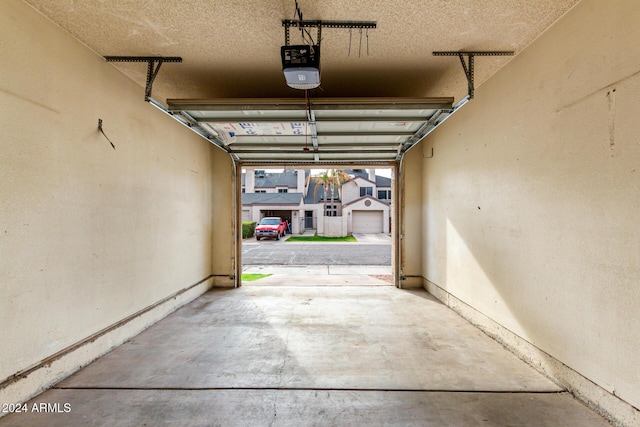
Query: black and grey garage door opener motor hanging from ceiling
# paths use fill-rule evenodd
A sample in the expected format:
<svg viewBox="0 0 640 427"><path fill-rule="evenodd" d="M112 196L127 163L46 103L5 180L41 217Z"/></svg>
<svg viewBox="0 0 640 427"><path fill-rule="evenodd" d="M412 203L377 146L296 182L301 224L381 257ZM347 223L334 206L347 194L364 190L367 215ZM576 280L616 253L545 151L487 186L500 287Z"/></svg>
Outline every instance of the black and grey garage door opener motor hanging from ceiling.
<svg viewBox="0 0 640 427"><path fill-rule="evenodd" d="M282 71L287 85L294 89L320 86L320 46L293 45L280 48Z"/></svg>

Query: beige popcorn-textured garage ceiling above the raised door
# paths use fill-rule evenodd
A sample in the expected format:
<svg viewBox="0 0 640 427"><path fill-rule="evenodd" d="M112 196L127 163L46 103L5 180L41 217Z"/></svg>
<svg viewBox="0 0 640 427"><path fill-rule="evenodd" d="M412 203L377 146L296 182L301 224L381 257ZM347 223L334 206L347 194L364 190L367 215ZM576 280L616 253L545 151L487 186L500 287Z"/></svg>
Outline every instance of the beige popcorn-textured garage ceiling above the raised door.
<svg viewBox="0 0 640 427"><path fill-rule="evenodd" d="M298 0L304 19L377 21L358 30L324 29L319 97L433 97L466 94L456 57L435 50L514 50L579 0ZM181 56L167 63L153 96L299 97L284 82L282 19L294 0L26 0L98 54ZM315 31L312 31L315 36ZM300 40L292 29L292 44ZM368 40L368 54L367 54ZM476 58L476 87L509 61ZM145 63L114 63L144 95Z"/></svg>

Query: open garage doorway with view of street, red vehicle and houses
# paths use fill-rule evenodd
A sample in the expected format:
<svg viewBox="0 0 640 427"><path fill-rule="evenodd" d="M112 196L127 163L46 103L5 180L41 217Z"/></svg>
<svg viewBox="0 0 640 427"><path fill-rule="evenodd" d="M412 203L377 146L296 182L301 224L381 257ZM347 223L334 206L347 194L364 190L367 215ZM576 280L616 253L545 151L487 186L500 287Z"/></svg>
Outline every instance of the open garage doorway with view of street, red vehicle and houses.
<svg viewBox="0 0 640 427"><path fill-rule="evenodd" d="M242 285L396 285L395 168L239 172ZM284 223L282 231L247 231L261 229L261 221L276 224L272 218Z"/></svg>

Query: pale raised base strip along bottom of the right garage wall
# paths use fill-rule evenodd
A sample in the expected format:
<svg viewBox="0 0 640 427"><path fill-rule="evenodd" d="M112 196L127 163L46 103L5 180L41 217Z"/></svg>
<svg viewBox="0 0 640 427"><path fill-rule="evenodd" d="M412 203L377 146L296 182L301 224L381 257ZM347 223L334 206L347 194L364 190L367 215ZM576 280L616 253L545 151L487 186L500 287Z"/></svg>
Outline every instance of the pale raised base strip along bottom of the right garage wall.
<svg viewBox="0 0 640 427"><path fill-rule="evenodd" d="M615 426L639 426L640 411L423 277L424 289Z"/></svg>

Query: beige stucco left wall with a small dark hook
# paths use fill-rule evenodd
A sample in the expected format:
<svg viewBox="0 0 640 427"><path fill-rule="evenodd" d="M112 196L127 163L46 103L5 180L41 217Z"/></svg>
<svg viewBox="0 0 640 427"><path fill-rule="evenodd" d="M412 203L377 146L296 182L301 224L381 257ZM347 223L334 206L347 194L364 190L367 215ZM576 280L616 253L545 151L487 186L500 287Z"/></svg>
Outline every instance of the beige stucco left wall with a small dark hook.
<svg viewBox="0 0 640 427"><path fill-rule="evenodd" d="M216 190L209 143L20 1L0 56L2 382L207 279Z"/></svg>

